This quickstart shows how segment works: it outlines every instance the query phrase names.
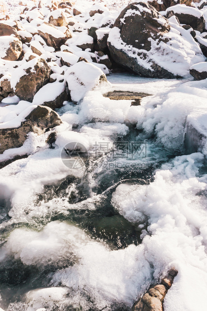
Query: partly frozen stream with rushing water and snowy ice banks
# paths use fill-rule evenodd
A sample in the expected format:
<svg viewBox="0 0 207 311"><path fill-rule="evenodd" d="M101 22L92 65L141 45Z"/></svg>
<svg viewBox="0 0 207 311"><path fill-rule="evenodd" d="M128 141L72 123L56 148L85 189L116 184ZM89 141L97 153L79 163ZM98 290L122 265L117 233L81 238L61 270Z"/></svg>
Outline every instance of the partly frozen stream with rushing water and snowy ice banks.
<svg viewBox="0 0 207 311"><path fill-rule="evenodd" d="M204 82L108 81L57 110L53 148L31 134L20 150L32 154L0 170L4 310L130 310L171 267L164 310L206 309L206 163L183 144L186 116L206 109ZM130 106L108 90L152 96ZM62 163L73 141L90 150L84 168Z"/></svg>

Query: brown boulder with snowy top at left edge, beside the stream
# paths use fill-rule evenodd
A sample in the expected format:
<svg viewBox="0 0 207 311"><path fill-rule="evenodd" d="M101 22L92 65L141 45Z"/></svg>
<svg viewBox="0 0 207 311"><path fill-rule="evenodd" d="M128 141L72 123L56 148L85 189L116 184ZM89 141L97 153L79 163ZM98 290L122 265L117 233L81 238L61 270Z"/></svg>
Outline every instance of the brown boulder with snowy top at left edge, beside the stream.
<svg viewBox="0 0 207 311"><path fill-rule="evenodd" d="M26 114L27 111L29 111L28 114ZM16 118L19 118L19 116ZM7 123L0 124L0 153L3 153L6 149L22 146L27 134L31 131L40 135L62 122L58 114L49 107L31 106L23 111L20 126L6 128Z"/></svg>

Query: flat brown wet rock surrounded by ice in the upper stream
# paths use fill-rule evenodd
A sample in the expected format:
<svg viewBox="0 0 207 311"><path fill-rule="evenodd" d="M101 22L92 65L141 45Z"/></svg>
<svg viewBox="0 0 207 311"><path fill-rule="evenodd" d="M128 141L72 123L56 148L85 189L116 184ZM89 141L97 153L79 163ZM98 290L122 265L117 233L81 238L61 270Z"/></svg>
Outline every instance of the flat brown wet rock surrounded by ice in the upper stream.
<svg viewBox="0 0 207 311"><path fill-rule="evenodd" d="M113 91L103 94L104 97L108 97L112 100L131 100L132 106L140 105L141 99L150 94L136 93L136 92L124 92L124 91Z"/></svg>

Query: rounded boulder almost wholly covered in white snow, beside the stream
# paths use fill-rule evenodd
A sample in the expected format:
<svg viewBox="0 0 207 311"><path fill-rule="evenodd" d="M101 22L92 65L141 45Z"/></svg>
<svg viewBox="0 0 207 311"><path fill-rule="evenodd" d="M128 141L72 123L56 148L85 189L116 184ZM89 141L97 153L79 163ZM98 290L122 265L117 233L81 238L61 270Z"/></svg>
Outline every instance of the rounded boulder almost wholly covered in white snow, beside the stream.
<svg viewBox="0 0 207 311"><path fill-rule="evenodd" d="M71 99L75 103L80 101L87 91L94 89L102 82L107 82L101 69L84 61L69 67L65 77Z"/></svg>

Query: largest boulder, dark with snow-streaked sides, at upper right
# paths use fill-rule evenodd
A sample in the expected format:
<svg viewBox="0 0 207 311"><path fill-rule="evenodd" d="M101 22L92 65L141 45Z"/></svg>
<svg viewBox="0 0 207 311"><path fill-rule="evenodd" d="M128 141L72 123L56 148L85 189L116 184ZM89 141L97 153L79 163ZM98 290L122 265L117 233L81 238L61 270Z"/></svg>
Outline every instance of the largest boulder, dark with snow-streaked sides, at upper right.
<svg viewBox="0 0 207 311"><path fill-rule="evenodd" d="M188 76L190 65L204 58L186 30L174 27L176 30L148 3L129 4L109 32L110 55L119 65L144 77Z"/></svg>

